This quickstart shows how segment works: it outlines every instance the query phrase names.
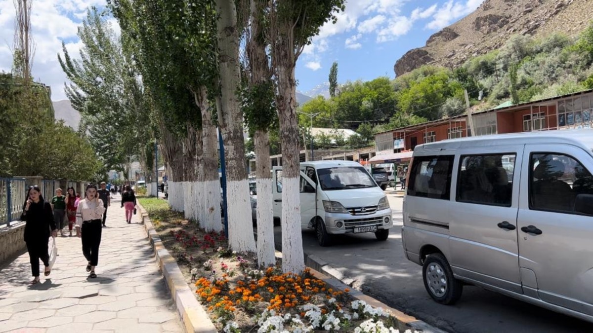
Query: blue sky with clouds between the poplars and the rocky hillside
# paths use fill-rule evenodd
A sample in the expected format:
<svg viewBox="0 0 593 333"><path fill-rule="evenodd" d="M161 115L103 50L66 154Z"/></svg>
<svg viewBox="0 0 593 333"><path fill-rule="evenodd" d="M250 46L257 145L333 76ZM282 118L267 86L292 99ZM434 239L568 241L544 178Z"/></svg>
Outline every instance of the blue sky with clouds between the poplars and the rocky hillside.
<svg viewBox="0 0 593 333"><path fill-rule="evenodd" d="M473 12L483 0L350 0L338 23L326 24L297 64L299 91L327 81L338 63L338 81L394 78L393 66L422 47L436 31Z"/></svg>

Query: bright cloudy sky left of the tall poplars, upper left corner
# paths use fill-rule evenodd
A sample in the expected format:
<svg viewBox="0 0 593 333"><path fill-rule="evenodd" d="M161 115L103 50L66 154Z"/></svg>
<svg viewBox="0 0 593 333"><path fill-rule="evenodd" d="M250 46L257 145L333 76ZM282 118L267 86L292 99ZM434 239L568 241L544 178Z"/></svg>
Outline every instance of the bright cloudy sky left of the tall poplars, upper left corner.
<svg viewBox="0 0 593 333"><path fill-rule="evenodd" d="M52 88L52 100L63 100L66 75L58 62L62 53L62 40L72 57L79 57L82 47L78 26L91 6L102 8L106 0L36 0L31 2L31 32L35 53L32 74L36 81ZM0 1L0 71L12 68L12 39L14 37L15 9L12 1ZM119 25L113 21L118 33Z"/></svg>

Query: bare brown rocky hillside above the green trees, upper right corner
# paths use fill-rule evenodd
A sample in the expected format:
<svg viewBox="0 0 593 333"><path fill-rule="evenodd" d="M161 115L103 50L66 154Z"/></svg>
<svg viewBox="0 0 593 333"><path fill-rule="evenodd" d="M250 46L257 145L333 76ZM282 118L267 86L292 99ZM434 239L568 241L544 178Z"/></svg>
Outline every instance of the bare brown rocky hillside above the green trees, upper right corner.
<svg viewBox="0 0 593 333"><path fill-rule="evenodd" d="M593 18L593 0L485 0L476 11L433 34L394 66L402 75L426 64L455 67L502 46L513 34L576 36Z"/></svg>

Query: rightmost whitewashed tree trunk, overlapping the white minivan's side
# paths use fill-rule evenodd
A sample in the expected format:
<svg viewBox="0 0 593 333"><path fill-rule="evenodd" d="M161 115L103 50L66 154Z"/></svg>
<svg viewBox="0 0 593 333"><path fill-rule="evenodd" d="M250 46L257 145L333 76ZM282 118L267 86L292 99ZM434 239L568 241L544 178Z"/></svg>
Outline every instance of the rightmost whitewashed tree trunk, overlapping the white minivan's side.
<svg viewBox="0 0 593 333"><path fill-rule="evenodd" d="M301 273L305 268L301 233L301 198L299 193L299 136L294 50L294 26L289 20L277 22L278 39L272 43L272 67L275 68L278 94L276 107L280 119L282 146L282 270Z"/></svg>

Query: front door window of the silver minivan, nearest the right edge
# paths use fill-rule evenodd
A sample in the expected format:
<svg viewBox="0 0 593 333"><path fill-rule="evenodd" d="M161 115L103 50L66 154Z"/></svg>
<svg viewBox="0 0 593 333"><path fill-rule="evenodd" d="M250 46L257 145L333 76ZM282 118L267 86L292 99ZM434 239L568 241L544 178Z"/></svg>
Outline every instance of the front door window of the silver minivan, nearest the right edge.
<svg viewBox="0 0 593 333"><path fill-rule="evenodd" d="M572 156L531 153L530 172L530 209L574 213L581 201L577 196L593 194L591 172Z"/></svg>

